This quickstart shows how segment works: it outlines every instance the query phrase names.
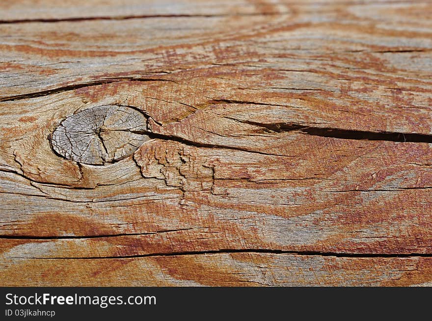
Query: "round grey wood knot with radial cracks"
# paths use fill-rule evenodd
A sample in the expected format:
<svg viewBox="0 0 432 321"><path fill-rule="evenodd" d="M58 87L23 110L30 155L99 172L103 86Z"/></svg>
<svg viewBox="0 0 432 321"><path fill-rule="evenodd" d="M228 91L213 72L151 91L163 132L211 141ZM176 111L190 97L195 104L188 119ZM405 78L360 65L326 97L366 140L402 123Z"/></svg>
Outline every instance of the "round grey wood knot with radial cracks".
<svg viewBox="0 0 432 321"><path fill-rule="evenodd" d="M104 165L132 155L150 138L146 117L131 107L106 105L85 109L55 128L54 151L83 164Z"/></svg>

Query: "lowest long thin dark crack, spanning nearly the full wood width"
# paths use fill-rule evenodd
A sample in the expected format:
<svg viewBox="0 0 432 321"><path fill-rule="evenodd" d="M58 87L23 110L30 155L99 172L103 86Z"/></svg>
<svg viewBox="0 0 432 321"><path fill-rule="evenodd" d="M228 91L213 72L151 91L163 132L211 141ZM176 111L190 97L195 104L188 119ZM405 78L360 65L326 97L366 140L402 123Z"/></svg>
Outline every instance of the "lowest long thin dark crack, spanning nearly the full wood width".
<svg viewBox="0 0 432 321"><path fill-rule="evenodd" d="M320 252L320 251L285 251L277 249L251 248L251 249L217 249L208 251L181 251L181 252L166 252L166 253L149 253L136 255L120 255L120 256L91 256L91 257L23 257L22 259L129 259L129 258L144 258L154 256L182 256L182 255L206 255L206 254L231 254L231 253L257 253L257 254L291 254L305 256L332 256L340 258L409 258L409 257L430 257L429 253L344 253L344 252ZM10 257L13 258L13 257ZM19 257L17 257L20 259Z"/></svg>

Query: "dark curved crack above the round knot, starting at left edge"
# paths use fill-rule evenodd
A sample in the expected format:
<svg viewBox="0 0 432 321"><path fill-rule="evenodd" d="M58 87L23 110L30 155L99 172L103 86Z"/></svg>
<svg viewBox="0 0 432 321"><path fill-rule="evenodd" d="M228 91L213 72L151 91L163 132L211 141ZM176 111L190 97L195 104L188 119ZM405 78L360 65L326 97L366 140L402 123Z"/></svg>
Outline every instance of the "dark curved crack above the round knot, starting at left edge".
<svg viewBox="0 0 432 321"><path fill-rule="evenodd" d="M91 86L99 86L104 84L110 84L114 82L125 82L125 81L172 81L169 79L161 79L161 78L136 78L136 77L119 77L119 78L110 78L105 80L95 80L95 81L89 81L81 84L74 84L74 85L68 85L64 87L54 88L54 89L48 89L48 90L42 90L36 93L28 93L28 94L22 94L22 95L15 95L15 96L9 96L9 97L3 97L0 98L0 101L13 101L13 100L20 100L20 99L30 99L30 98L37 98L37 97L45 97L53 94L63 93L75 89L80 89L83 87L91 87Z"/></svg>

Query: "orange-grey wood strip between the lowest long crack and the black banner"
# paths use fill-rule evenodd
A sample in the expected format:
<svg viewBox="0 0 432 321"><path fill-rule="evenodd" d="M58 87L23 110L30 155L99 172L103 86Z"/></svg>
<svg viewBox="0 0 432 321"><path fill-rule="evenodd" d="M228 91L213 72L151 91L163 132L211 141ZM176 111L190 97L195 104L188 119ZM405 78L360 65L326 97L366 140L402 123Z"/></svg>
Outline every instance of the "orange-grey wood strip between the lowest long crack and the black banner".
<svg viewBox="0 0 432 321"><path fill-rule="evenodd" d="M0 261L6 285L430 286L431 258L223 253L139 259Z"/></svg>

